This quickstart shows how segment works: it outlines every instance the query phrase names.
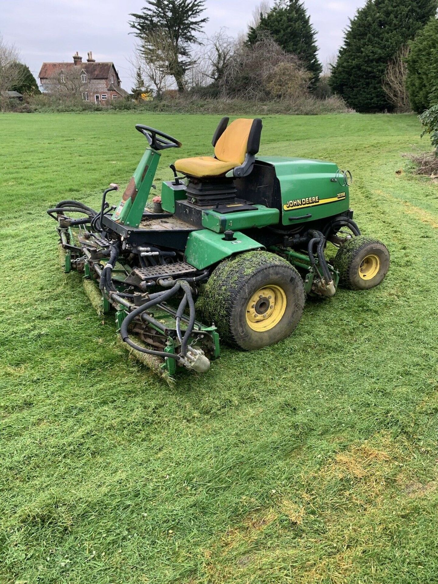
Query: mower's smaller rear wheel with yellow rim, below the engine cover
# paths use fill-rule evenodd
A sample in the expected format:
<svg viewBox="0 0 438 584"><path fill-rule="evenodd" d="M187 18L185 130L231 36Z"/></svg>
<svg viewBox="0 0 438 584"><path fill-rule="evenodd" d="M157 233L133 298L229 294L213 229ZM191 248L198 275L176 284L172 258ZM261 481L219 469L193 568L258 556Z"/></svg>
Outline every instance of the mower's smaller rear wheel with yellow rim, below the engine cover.
<svg viewBox="0 0 438 584"><path fill-rule="evenodd" d="M364 235L347 239L336 253L333 267L339 283L350 290L369 290L378 286L390 267L390 253L378 239Z"/></svg>

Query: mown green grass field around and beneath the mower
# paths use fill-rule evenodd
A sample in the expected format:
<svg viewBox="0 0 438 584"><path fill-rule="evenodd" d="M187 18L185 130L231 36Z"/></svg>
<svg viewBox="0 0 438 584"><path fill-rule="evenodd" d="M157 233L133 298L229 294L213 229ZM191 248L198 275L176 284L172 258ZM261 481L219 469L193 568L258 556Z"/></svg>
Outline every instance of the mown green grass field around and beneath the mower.
<svg viewBox="0 0 438 584"><path fill-rule="evenodd" d="M169 388L129 359L60 270L46 208L126 186L135 123L183 142L159 189L217 121L0 116L0 582L436 583L438 186L396 173L427 148L416 117L264 117L261 153L353 172L391 268L206 376Z"/></svg>

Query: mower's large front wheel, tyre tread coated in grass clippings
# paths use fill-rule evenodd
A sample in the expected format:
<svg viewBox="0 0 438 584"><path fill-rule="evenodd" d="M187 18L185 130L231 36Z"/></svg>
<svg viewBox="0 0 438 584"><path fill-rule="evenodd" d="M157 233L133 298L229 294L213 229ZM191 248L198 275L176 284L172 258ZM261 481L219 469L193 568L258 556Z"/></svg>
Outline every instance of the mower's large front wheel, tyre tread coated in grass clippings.
<svg viewBox="0 0 438 584"><path fill-rule="evenodd" d="M289 336L303 314L300 274L274 253L253 251L221 262L203 287L203 318L221 339L244 350L273 345Z"/></svg>

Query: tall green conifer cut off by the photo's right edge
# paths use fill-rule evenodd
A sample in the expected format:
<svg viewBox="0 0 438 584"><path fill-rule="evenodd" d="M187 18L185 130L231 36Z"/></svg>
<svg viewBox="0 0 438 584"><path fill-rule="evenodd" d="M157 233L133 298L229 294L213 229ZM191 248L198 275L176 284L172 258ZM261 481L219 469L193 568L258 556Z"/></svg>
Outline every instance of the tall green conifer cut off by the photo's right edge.
<svg viewBox="0 0 438 584"><path fill-rule="evenodd" d="M438 20L429 20L411 43L406 77L411 105L422 113L438 103ZM435 100L435 101L433 101Z"/></svg>

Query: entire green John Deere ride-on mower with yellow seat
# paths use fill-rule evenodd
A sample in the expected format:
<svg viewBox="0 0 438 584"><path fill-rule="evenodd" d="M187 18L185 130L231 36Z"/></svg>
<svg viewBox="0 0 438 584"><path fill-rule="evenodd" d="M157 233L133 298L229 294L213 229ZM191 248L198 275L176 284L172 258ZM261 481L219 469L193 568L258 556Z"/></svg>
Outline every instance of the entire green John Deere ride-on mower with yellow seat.
<svg viewBox="0 0 438 584"><path fill-rule="evenodd" d="M262 120L228 121L214 133L214 156L170 166L174 178L152 206L161 151L182 144L137 124L149 148L117 207L106 202L113 184L99 211L72 200L47 211L65 272L83 273L95 296L99 287L100 310L115 309L123 342L168 377L179 366L207 371L219 338L245 350L286 338L306 295L331 297L338 284L372 288L390 265L387 248L353 221L349 171L258 156ZM338 248L330 263L327 242Z"/></svg>

